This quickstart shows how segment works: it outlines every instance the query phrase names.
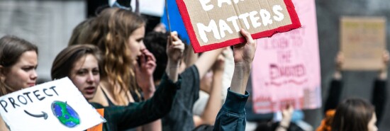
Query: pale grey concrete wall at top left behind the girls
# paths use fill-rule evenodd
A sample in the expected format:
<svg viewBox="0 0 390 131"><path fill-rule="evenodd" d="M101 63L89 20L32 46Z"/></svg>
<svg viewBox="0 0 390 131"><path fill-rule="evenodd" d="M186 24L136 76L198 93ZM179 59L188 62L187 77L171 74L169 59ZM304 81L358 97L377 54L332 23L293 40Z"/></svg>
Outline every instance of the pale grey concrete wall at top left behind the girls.
<svg viewBox="0 0 390 131"><path fill-rule="evenodd" d="M84 20L85 1L0 1L0 37L16 35L38 46L38 78L50 80L55 56Z"/></svg>

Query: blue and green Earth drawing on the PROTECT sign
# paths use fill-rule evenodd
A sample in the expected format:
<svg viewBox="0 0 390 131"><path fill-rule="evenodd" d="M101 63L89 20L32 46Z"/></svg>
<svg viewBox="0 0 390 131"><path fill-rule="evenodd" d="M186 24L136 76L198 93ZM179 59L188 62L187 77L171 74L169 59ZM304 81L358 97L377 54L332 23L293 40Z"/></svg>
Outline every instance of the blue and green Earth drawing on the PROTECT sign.
<svg viewBox="0 0 390 131"><path fill-rule="evenodd" d="M80 124L80 117L76 110L70 107L66 102L54 101L52 102L52 113L60 120L62 125L67 127L75 127Z"/></svg>

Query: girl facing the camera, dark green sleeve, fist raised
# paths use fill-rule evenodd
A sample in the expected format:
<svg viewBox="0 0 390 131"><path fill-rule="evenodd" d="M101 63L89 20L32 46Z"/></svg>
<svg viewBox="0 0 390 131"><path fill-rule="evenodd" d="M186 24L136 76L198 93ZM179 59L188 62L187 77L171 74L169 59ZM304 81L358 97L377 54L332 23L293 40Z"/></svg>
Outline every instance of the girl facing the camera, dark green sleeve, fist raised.
<svg viewBox="0 0 390 131"><path fill-rule="evenodd" d="M182 54L184 46L171 45L169 59ZM57 55L52 64L52 79L61 79L68 76L73 84L82 92L84 98L94 98L100 82L101 55L94 45L74 45L65 48ZM167 69L163 76L162 85L157 89L155 96L147 101L132 103L128 106L103 107L99 103L91 103L95 108L104 108L103 130L128 130L132 127L150 123L169 113L172 103L179 89L178 68Z"/></svg>

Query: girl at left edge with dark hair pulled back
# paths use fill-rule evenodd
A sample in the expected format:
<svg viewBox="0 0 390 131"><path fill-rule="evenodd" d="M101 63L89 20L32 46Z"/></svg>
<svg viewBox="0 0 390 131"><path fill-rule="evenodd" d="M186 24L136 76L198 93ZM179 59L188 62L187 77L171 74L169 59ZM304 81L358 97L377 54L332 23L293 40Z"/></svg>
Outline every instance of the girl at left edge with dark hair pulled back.
<svg viewBox="0 0 390 131"><path fill-rule="evenodd" d="M35 86L37 66L38 47L11 35L0 38L0 96ZM8 130L1 117L0 130Z"/></svg>

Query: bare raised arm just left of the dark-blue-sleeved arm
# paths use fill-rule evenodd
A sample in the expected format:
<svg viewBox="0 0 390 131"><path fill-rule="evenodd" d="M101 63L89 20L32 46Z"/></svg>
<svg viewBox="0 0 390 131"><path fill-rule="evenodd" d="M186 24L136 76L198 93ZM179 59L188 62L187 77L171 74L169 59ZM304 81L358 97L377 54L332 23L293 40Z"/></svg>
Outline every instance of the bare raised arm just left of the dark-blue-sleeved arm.
<svg viewBox="0 0 390 131"><path fill-rule="evenodd" d="M218 110L221 108L221 89L222 89L222 76L225 69L225 61L223 55L218 56L218 60L213 64L213 81L212 86L208 94L210 97L204 108L204 113L201 117L194 119L195 127L202 124L213 125L218 114Z"/></svg>

